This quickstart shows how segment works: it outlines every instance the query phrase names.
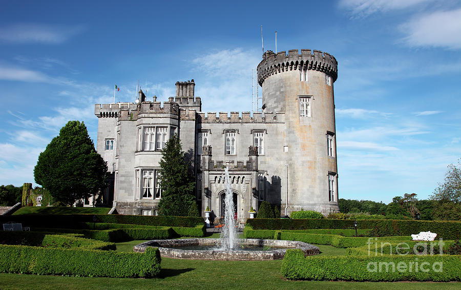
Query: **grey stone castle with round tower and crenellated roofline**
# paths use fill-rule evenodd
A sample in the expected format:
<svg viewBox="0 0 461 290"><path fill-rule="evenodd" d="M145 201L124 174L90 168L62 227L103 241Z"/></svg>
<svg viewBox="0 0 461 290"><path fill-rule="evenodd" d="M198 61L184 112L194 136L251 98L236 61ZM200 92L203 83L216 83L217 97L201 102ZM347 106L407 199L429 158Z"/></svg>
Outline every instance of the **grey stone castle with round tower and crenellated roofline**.
<svg viewBox="0 0 461 290"><path fill-rule="evenodd" d="M162 191L161 150L178 134L196 162L201 212L223 215L224 168L229 168L239 219L262 201L281 214L339 211L333 83L338 62L318 50L267 51L258 65L262 112L201 112L195 82L176 82L163 103L95 105L97 151L111 179L103 193L119 214L156 215Z"/></svg>

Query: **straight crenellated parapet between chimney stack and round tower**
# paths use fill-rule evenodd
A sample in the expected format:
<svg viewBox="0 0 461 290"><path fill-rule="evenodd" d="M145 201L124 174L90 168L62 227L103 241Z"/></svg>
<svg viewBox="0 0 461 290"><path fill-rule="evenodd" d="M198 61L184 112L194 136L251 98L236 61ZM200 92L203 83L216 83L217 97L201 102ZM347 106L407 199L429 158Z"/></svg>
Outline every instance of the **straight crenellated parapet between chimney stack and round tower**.
<svg viewBox="0 0 461 290"><path fill-rule="evenodd" d="M274 113L274 112L265 112L264 115L262 112L253 112L253 117L250 112L231 112L229 117L227 112L219 112L216 115L216 112L208 112L205 115L205 112L197 113L202 123L284 123L285 122L285 113Z"/></svg>

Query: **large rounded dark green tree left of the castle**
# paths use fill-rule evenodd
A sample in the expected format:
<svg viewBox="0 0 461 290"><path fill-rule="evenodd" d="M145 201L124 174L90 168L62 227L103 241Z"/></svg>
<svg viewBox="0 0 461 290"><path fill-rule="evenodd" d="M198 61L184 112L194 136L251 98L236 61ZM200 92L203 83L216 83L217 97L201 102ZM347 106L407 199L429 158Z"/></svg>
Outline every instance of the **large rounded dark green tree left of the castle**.
<svg viewBox="0 0 461 290"><path fill-rule="evenodd" d="M69 121L38 156L34 177L55 201L72 204L106 185L107 163L94 149L85 124Z"/></svg>

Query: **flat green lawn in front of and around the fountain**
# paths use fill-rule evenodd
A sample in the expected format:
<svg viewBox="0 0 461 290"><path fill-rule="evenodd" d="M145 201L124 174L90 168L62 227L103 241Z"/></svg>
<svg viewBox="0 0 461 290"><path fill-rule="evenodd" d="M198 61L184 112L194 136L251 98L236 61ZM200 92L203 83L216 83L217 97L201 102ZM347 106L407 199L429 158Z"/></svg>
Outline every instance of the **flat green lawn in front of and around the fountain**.
<svg viewBox="0 0 461 290"><path fill-rule="evenodd" d="M213 234L215 237L219 234ZM144 240L116 243L117 251L131 252ZM317 245L320 255L344 255L346 249ZM0 289L461 289L461 283L289 281L280 274L282 260L205 261L162 259L155 279L120 279L0 274Z"/></svg>

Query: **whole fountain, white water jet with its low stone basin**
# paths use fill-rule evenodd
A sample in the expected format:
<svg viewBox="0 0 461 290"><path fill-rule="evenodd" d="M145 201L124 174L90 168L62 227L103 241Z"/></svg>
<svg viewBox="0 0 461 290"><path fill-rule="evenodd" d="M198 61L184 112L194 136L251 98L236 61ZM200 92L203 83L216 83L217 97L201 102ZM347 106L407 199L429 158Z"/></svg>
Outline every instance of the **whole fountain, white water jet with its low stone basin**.
<svg viewBox="0 0 461 290"><path fill-rule="evenodd" d="M320 253L317 246L300 241L237 239L234 192L227 167L224 169L224 183L226 186L224 226L219 239L151 240L134 246L133 251L144 252L146 247L155 246L158 247L162 257L201 260L283 259L287 248L300 248L305 255Z"/></svg>

